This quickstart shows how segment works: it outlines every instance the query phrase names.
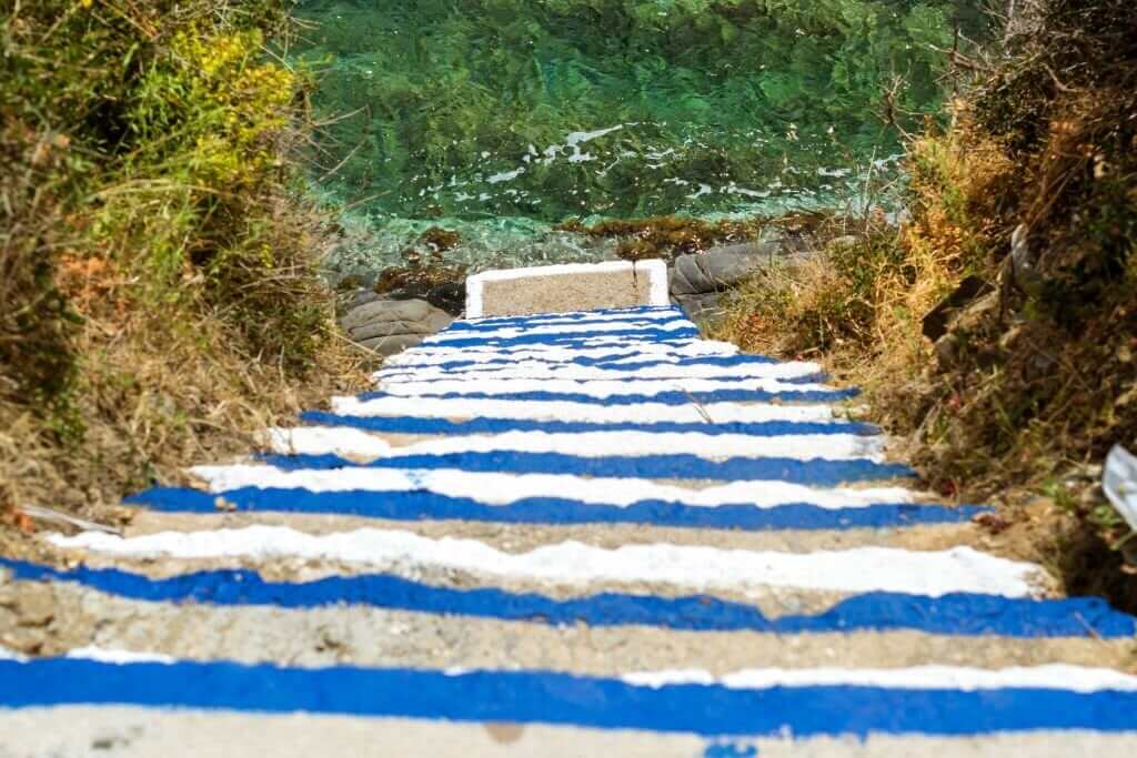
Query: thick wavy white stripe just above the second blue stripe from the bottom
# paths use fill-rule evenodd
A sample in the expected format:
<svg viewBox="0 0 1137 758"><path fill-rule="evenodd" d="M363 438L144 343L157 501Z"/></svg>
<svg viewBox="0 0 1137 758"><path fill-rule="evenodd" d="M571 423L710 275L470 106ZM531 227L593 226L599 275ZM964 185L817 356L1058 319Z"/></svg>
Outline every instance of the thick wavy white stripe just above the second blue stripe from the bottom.
<svg viewBox="0 0 1137 758"><path fill-rule="evenodd" d="M364 564L415 573L424 567L567 585L666 583L696 590L758 591L782 586L837 592L907 592L939 597L977 592L1028 597L1040 569L972 550L915 552L856 548L808 553L630 544L613 550L562 542L509 553L476 540L432 540L402 530L363 528L313 535L283 526L208 532L160 532L121 538L84 532L53 534L60 548L114 556L219 559L289 557Z"/></svg>

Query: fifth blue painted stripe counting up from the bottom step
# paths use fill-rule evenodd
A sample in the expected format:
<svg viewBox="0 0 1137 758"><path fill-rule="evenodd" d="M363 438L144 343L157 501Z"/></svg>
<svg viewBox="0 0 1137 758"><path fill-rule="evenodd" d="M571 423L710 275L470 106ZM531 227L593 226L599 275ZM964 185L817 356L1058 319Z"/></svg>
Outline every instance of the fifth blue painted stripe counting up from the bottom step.
<svg viewBox="0 0 1137 758"><path fill-rule="evenodd" d="M787 434L858 434L872 436L880 430L871 424L855 422L542 422L528 418L471 418L451 422L447 418L418 418L415 416L342 416L324 410L308 410L300 419L324 426L350 426L387 434L503 434L505 432L546 432L570 434L578 432L654 432L658 434L696 432L699 434L747 434L750 436L782 436Z"/></svg>

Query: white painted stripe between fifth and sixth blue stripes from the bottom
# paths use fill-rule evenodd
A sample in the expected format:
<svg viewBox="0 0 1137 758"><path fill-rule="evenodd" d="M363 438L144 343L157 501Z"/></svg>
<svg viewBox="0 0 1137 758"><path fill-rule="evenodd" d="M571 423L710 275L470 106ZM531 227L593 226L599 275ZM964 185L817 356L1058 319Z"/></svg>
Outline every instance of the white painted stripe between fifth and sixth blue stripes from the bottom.
<svg viewBox="0 0 1137 758"><path fill-rule="evenodd" d="M495 400L492 398L332 398L333 413L343 416L407 416L417 418L513 418L596 423L652 424L656 422L703 424L761 422L827 422L835 418L825 405L779 406L773 403L707 402L667 406L642 402L628 406L596 406L587 402ZM704 416L706 414L706 416Z"/></svg>

